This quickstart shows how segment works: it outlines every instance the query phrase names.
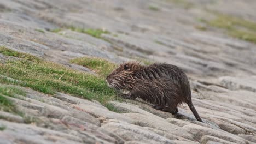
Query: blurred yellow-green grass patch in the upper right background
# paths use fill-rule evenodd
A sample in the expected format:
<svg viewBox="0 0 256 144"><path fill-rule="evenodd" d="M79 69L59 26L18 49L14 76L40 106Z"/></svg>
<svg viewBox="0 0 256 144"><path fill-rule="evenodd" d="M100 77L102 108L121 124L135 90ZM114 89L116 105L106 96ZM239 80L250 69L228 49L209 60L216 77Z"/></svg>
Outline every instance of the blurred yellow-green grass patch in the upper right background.
<svg viewBox="0 0 256 144"><path fill-rule="evenodd" d="M223 14L216 14L213 20L201 21L209 26L224 29L232 37L256 43L256 22Z"/></svg>

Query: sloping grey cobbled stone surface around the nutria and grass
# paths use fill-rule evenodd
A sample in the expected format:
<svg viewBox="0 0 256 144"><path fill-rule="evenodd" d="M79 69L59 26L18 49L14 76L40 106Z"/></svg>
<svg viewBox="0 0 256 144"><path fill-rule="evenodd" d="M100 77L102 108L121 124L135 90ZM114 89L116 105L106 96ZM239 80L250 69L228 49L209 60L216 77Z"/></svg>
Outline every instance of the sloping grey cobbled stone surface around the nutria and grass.
<svg viewBox="0 0 256 144"><path fill-rule="evenodd" d="M50 97L19 87L26 97L4 97L24 115L0 111L0 143L256 143L256 46L200 22L216 16L210 11L256 22L255 5L233 0L1 0L1 46L91 74L69 60L96 56L115 63L177 65L189 77L193 104L205 123L195 120L187 104L172 115L139 99L110 101L121 112L116 113L95 100L61 92ZM95 38L74 28L110 33ZM0 69L14 59L0 53Z"/></svg>

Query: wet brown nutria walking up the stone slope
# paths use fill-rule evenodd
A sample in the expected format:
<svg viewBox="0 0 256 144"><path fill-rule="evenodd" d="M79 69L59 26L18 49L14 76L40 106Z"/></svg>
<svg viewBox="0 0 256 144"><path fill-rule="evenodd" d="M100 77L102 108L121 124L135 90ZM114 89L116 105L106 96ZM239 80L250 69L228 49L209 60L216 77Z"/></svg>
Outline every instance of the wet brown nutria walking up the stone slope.
<svg viewBox="0 0 256 144"><path fill-rule="evenodd" d="M178 112L179 104L187 103L197 121L203 122L192 104L188 77L175 65L123 63L107 76L107 83L109 87L122 91L123 98L138 97L153 104L154 109L172 114Z"/></svg>

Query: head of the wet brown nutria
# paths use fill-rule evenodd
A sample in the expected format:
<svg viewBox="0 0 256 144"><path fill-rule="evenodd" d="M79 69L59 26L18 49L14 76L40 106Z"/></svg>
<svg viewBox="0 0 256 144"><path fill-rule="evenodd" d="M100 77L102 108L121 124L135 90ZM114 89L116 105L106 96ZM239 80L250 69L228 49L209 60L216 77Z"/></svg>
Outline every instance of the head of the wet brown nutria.
<svg viewBox="0 0 256 144"><path fill-rule="evenodd" d="M108 86L117 90L132 89L132 85L136 81L135 73L142 67L138 62L120 64L117 69L107 76Z"/></svg>

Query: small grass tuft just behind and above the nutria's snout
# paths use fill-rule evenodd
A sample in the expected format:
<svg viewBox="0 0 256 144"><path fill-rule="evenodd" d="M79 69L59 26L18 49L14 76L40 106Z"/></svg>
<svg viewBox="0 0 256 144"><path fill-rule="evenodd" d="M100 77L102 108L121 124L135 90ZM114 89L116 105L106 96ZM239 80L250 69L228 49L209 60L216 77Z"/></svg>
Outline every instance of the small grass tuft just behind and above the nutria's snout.
<svg viewBox="0 0 256 144"><path fill-rule="evenodd" d="M117 67L114 63L97 57L75 58L71 60L71 63L90 68L103 77L109 75Z"/></svg>

